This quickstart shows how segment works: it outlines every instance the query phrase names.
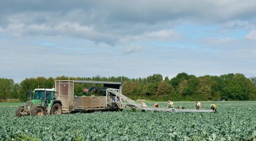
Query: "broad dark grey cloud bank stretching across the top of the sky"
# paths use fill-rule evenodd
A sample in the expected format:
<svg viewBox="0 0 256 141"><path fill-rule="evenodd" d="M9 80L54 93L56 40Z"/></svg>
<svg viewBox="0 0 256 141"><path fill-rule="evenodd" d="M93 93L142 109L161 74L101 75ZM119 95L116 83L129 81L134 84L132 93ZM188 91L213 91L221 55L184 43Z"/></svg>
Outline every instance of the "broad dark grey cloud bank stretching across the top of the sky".
<svg viewBox="0 0 256 141"><path fill-rule="evenodd" d="M111 45L122 41L124 36L166 41L176 39L173 29L186 23L254 28L250 24L255 23L255 20L251 21L256 18L254 7L256 1L253 0L3 0L0 5L0 32L16 36L82 37Z"/></svg>

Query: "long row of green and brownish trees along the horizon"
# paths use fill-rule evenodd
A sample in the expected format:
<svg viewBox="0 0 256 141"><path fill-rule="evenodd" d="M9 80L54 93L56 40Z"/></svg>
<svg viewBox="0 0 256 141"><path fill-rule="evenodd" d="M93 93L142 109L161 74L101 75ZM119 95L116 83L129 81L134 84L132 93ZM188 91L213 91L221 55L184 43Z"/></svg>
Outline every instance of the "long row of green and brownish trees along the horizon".
<svg viewBox="0 0 256 141"><path fill-rule="evenodd" d="M213 101L213 100L256 100L256 77L246 78L243 74L205 75L195 77L180 73L176 77L163 78L153 74L147 78L130 79L127 77L56 77L26 78L20 83L13 79L0 78L0 98L19 98L27 100L31 89L38 86L51 88L54 80L87 80L122 82L122 93L134 100L172 100L172 101ZM92 84L76 83L75 94L81 96L82 90ZM96 85L101 86L101 85Z"/></svg>

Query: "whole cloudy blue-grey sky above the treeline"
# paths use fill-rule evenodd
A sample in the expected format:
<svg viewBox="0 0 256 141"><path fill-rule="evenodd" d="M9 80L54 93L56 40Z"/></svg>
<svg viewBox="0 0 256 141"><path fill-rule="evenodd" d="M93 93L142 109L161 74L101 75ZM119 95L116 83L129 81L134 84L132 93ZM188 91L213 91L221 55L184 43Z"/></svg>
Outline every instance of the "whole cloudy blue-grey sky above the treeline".
<svg viewBox="0 0 256 141"><path fill-rule="evenodd" d="M0 78L256 77L255 0L2 0Z"/></svg>

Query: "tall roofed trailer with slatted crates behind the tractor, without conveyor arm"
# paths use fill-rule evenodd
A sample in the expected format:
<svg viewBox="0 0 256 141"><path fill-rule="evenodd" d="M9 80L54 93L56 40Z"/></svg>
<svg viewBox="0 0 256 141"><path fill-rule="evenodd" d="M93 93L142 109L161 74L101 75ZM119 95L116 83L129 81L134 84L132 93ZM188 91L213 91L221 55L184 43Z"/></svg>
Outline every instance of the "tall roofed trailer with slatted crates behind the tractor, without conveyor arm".
<svg viewBox="0 0 256 141"><path fill-rule="evenodd" d="M102 84L105 94L103 96L75 96L74 87L76 83ZM56 98L61 101L63 113L75 110L122 110L122 99L107 89L115 89L122 93L121 82L104 81L55 81Z"/></svg>

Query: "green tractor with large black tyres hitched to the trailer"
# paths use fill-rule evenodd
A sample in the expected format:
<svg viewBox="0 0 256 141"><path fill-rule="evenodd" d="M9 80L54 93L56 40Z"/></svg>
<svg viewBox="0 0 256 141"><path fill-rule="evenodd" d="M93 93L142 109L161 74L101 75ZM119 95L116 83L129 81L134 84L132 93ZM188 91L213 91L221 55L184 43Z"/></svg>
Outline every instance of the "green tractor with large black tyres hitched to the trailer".
<svg viewBox="0 0 256 141"><path fill-rule="evenodd" d="M35 89L30 93L29 99L16 110L17 117L62 114L62 104L60 100L56 100L55 89Z"/></svg>

